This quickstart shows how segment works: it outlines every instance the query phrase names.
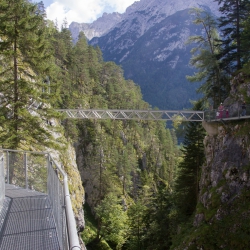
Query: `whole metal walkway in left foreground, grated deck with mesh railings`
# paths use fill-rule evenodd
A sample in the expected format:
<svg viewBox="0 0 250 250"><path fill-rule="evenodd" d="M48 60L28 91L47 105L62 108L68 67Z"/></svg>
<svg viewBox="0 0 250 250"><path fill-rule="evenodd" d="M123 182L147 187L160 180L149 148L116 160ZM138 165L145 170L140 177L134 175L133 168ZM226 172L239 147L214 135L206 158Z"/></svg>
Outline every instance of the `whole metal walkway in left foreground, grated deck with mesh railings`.
<svg viewBox="0 0 250 250"><path fill-rule="evenodd" d="M81 249L61 166L48 152L0 153L0 250Z"/></svg>

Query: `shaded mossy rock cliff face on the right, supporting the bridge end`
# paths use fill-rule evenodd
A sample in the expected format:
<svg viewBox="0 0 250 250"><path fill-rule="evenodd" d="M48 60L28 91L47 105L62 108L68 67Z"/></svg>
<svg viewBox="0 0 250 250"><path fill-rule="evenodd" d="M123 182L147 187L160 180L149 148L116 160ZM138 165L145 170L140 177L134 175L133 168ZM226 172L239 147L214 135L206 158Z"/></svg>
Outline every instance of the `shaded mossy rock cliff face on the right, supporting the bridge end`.
<svg viewBox="0 0 250 250"><path fill-rule="evenodd" d="M243 79L242 75L233 79L231 96L224 105L237 106L243 98L249 100L250 83L244 83ZM249 125L249 119L218 122L213 125L217 127L217 134L205 137L206 162L201 169L199 201L193 223L196 229L185 246L248 249L248 241L239 238L249 233Z"/></svg>

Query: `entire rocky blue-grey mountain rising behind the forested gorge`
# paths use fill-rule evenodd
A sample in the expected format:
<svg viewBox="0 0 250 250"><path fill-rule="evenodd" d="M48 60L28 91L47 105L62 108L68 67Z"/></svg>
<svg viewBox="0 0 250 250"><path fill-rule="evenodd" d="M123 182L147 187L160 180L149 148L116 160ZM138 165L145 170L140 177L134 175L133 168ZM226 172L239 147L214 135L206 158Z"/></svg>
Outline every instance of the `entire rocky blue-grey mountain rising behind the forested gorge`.
<svg viewBox="0 0 250 250"><path fill-rule="evenodd" d="M186 41L202 32L192 22L191 7L218 14L217 3L209 0L141 0L119 18L110 14L112 21L103 34L91 38L90 30L83 31L91 45L100 47L106 61L121 65L125 77L140 85L145 101L161 109L188 108L189 100L198 98L199 84L186 80L194 72L189 66L192 47ZM97 20L99 25L105 26L105 18ZM97 31L97 23L92 28Z"/></svg>

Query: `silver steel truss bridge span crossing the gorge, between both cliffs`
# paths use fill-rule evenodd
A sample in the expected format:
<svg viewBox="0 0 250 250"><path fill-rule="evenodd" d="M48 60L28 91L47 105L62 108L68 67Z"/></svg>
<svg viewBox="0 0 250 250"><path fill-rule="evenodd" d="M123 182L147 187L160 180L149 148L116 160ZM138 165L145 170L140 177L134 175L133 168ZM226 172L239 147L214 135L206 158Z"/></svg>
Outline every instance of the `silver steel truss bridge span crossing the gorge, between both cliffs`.
<svg viewBox="0 0 250 250"><path fill-rule="evenodd" d="M194 110L119 110L119 109L57 109L66 118L149 121L203 121L204 111Z"/></svg>

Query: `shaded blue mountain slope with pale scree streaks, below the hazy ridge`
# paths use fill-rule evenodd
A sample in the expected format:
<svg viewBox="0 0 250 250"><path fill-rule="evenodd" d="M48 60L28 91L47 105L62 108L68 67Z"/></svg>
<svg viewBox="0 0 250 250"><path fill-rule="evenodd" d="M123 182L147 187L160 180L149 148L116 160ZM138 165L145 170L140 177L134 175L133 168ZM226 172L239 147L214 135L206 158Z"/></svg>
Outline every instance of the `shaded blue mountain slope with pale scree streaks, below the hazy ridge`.
<svg viewBox="0 0 250 250"><path fill-rule="evenodd" d="M192 46L186 41L189 36L200 34L201 28L193 24L188 9L163 18L150 29L143 24L147 15L141 12L133 20L124 21L121 29L94 38L91 43L98 41L105 60L122 65L125 77L140 85L144 100L152 106L189 107L189 100L197 99L198 84L186 80L186 75L194 72L189 67ZM124 32L126 26L130 32Z"/></svg>

